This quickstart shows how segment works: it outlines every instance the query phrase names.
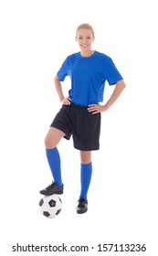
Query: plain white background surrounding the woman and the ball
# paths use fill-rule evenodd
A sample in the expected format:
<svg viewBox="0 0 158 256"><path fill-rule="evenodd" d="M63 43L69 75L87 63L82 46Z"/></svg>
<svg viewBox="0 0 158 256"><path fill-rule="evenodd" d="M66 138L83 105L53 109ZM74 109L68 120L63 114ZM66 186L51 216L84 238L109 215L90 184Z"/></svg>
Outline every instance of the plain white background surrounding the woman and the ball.
<svg viewBox="0 0 158 256"><path fill-rule="evenodd" d="M12 252L17 242L64 242L94 246L85 255L104 254L99 243L145 243L147 251L133 255L156 255L157 19L153 0L0 2L1 254L24 255ZM53 78L68 54L79 51L75 32L84 22L94 27L93 48L111 56L127 87L102 114L88 213L76 214L79 152L62 140L63 208L56 219L46 219L38 191L52 178L43 141L60 108ZM112 90L106 84L104 101Z"/></svg>

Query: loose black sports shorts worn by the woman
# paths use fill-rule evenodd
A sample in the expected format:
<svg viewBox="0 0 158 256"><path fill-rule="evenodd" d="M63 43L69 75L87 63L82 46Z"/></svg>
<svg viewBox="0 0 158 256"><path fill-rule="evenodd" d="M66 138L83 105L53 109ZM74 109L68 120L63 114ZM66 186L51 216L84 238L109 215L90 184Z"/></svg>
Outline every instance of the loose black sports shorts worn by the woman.
<svg viewBox="0 0 158 256"><path fill-rule="evenodd" d="M100 149L100 112L92 114L88 107L74 103L63 105L50 127L65 133L69 140L71 134L74 147L83 151Z"/></svg>

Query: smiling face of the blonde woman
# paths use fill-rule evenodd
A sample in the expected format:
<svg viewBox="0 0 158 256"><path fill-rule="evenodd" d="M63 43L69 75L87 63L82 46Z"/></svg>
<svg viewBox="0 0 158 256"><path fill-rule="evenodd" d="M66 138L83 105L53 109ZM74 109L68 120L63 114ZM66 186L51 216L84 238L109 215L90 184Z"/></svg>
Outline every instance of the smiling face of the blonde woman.
<svg viewBox="0 0 158 256"><path fill-rule="evenodd" d="M94 41L93 33L88 28L81 28L77 32L76 40L81 51L88 52L91 50L91 44Z"/></svg>

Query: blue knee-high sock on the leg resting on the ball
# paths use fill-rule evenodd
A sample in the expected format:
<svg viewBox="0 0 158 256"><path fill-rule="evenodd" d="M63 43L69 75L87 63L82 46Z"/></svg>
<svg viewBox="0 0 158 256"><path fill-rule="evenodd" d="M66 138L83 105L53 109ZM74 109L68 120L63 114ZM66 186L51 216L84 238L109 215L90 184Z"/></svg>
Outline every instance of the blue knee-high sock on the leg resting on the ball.
<svg viewBox="0 0 158 256"><path fill-rule="evenodd" d="M61 187L62 179L61 179L61 169L60 169L60 156L59 156L57 147L46 149L46 154L47 154L47 162L49 164L54 181L55 183L58 184L59 187Z"/></svg>

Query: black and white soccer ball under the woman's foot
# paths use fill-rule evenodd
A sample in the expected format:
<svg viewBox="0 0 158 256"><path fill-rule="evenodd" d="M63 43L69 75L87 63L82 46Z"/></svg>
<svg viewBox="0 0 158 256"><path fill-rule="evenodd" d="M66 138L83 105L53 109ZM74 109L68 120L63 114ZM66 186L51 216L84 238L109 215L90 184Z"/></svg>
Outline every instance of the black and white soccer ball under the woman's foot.
<svg viewBox="0 0 158 256"><path fill-rule="evenodd" d="M39 201L40 212L47 218L56 217L62 208L62 201L58 195L45 196Z"/></svg>

